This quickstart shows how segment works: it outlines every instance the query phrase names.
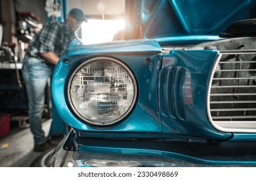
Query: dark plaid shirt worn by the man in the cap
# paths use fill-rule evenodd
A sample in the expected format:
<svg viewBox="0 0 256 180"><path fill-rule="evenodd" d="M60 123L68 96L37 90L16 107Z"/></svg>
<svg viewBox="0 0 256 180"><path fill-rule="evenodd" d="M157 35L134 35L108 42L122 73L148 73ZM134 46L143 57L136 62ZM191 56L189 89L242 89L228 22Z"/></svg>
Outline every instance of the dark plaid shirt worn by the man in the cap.
<svg viewBox="0 0 256 180"><path fill-rule="evenodd" d="M73 31L68 30L65 22L47 23L42 30L30 40L27 52L32 57L42 59L40 53L53 51L60 57L73 38L75 38L75 34Z"/></svg>

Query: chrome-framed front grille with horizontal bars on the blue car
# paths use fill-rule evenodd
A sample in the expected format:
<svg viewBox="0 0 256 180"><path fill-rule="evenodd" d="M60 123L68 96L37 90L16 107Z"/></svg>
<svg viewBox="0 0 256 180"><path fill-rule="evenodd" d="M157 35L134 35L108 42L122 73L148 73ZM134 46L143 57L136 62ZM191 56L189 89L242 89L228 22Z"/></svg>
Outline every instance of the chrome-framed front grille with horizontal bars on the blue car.
<svg viewBox="0 0 256 180"><path fill-rule="evenodd" d="M208 116L224 132L256 132L256 52L221 53L208 89Z"/></svg>

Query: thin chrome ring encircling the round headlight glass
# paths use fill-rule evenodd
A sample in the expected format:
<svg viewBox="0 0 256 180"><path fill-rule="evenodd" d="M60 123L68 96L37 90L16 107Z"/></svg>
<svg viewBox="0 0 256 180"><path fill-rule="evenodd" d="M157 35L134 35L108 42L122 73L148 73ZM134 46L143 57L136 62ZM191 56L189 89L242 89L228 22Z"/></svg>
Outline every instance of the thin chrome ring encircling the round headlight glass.
<svg viewBox="0 0 256 180"><path fill-rule="evenodd" d="M111 123L94 123L91 122L89 120L87 120L86 118L84 118L82 115L80 115L77 110L75 109L75 107L73 107L73 104L71 102L71 98L70 98L70 86L71 86L71 80L73 80L73 76L75 76L75 73L77 73L77 71L80 69L80 67L84 66L85 64L95 61L95 60L109 60L111 62L114 62L116 64L118 64L119 66L123 67L123 69L125 69L125 71L127 71L127 73L129 73L129 75L131 75L131 79L133 80L133 86L134 86L134 97L133 97L133 102L131 104L131 106L129 107L129 109L127 110L127 112L125 114L123 114L120 118L118 118L117 120L115 120L114 122ZM113 123L117 123L120 122L121 120L123 120L123 118L125 118L133 109L136 99L137 99L137 84L136 84L136 79L132 73L132 71L129 69L129 67L127 67L125 64L123 64L120 60L116 60L114 58L109 58L109 57L96 57L96 58L91 58L89 60L86 60L85 62L83 62L82 64L80 64L80 66L78 66L72 73L72 75L70 76L69 80L68 80L68 88L67 88L67 94L68 94L68 101L69 104L71 106L71 109L74 111L75 114L77 114L77 116L79 118L81 118L82 120L84 120L85 122L89 123L89 124L93 124L93 125L101 125L101 126L105 126L105 125L112 125Z"/></svg>

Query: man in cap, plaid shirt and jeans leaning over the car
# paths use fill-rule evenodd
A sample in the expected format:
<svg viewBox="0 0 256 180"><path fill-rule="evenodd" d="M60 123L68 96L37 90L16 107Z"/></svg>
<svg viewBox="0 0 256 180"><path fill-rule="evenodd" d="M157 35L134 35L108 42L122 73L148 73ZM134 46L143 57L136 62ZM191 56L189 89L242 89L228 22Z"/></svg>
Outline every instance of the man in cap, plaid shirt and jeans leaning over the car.
<svg viewBox="0 0 256 180"><path fill-rule="evenodd" d="M35 142L34 151L43 152L53 147L42 130L44 89L62 52L75 37L80 24L86 21L82 10L70 10L66 22L45 24L30 41L23 60L23 76L28 94L28 116Z"/></svg>

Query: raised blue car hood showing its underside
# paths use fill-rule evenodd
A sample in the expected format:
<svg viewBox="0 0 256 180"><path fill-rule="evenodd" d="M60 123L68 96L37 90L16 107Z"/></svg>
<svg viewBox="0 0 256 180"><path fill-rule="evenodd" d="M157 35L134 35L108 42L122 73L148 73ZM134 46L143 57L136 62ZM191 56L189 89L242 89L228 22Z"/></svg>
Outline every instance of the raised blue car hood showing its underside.
<svg viewBox="0 0 256 180"><path fill-rule="evenodd" d="M134 3L134 10L140 8L138 12L141 22L134 22L140 23L142 38L180 42L186 37L190 40L214 40L232 22L255 17L253 14L255 2L255 0L142 0L140 6Z"/></svg>

